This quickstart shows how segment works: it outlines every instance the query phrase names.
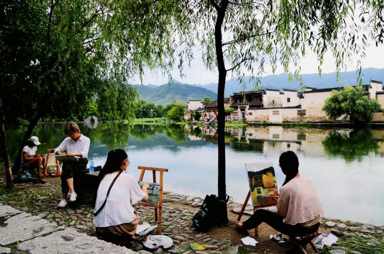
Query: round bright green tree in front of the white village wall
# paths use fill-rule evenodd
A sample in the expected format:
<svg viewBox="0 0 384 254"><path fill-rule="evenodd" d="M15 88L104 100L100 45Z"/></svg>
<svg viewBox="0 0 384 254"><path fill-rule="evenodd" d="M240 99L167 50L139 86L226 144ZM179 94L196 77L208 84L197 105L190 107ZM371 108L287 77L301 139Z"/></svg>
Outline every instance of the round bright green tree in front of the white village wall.
<svg viewBox="0 0 384 254"><path fill-rule="evenodd" d="M369 100L361 86L346 86L343 90L334 91L323 107L330 118L336 120L345 116L352 123L370 122L373 113L379 109L377 100Z"/></svg>

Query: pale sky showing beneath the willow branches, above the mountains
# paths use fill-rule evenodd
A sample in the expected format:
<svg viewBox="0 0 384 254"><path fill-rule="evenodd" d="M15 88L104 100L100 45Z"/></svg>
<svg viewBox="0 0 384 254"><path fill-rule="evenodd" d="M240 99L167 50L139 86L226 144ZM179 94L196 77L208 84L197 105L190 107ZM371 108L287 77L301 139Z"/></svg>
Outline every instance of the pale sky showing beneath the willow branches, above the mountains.
<svg viewBox="0 0 384 254"><path fill-rule="evenodd" d="M362 59L361 66L362 68L384 68L384 45L379 45L376 47L374 43L371 43L369 47L366 48L367 56ZM218 81L218 72L213 71L209 72L206 70L203 60L201 59L201 51L198 48L194 49L194 60L191 62L190 66L184 65L183 74L185 75L183 78L180 77L179 70L177 67L172 71L172 77L174 80L177 80L186 84L208 84L208 83L217 83ZM325 61L322 65L322 73L331 73L336 71L336 67L334 64L334 58L331 53L327 53L324 57ZM356 71L356 60L353 62L347 63L346 70L342 71ZM301 59L301 74L312 74L317 73L318 62L315 54L308 53L304 58ZM244 71L247 75L247 72ZM163 77L161 71L151 72L146 70L144 72L143 84L153 84L153 85L162 85L168 82L168 77ZM283 72L283 68L278 66L277 70L274 74L281 74ZM272 75L272 68L268 65L265 66L265 74L263 76ZM230 74L227 74L227 80L231 79ZM140 79L138 76L135 76L133 80L131 80L133 84L139 84Z"/></svg>

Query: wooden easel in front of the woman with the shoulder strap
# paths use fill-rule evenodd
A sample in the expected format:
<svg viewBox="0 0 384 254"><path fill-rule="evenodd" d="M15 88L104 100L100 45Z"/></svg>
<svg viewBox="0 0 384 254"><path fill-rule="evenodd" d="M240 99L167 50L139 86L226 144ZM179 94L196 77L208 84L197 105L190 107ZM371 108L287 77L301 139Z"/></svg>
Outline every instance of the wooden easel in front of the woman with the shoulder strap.
<svg viewBox="0 0 384 254"><path fill-rule="evenodd" d="M160 172L160 191L159 191L159 202L158 204L150 204L146 202L139 202L140 205L149 206L155 208L155 221L158 221L158 234L161 235L161 211L163 205L163 172L168 172L168 169L162 168L151 168L151 167L142 167L139 166L137 169L141 170L139 181L143 181L145 170L152 170L153 173L153 182L156 182L156 171ZM159 209L159 210L158 210ZM159 213L158 213L159 212Z"/></svg>

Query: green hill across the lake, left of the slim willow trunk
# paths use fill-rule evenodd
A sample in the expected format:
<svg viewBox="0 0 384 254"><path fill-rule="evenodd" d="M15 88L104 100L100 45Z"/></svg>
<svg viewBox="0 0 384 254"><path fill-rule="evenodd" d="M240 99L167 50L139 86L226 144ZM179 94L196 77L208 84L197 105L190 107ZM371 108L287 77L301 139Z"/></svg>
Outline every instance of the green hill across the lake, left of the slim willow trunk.
<svg viewBox="0 0 384 254"><path fill-rule="evenodd" d="M174 81L168 85L133 85L138 91L140 99L155 104L167 105L172 102L187 103L190 100L202 100L209 97L217 99L217 94L206 88L182 84Z"/></svg>

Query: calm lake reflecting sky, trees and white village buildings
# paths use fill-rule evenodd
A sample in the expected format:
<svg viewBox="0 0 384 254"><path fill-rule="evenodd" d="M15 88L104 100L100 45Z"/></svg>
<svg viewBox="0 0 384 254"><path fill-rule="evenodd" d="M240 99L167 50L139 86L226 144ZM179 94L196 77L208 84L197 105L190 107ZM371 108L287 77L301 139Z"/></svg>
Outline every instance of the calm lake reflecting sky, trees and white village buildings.
<svg viewBox="0 0 384 254"><path fill-rule="evenodd" d="M89 156L103 165L108 151L124 149L129 173L137 166L168 168L164 189L205 197L217 194L216 129L208 126L88 124L79 125L91 138ZM33 134L40 153L57 147L65 138L64 124L39 124ZM7 133L14 158L23 130ZM310 177L323 203L324 216L384 225L384 129L291 128L246 126L226 128L227 194L243 203L249 190L245 163L271 161L279 187L285 176L279 156L292 150L299 171ZM144 180L151 181L146 173Z"/></svg>

